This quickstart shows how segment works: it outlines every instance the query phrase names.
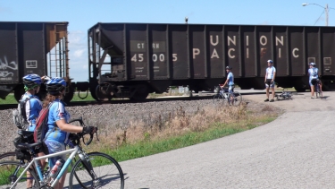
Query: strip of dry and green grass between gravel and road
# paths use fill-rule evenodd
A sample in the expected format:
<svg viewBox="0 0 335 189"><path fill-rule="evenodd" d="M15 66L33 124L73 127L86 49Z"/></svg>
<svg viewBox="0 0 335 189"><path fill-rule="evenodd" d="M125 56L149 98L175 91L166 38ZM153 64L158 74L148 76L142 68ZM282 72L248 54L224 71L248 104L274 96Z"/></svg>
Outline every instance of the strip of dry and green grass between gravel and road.
<svg viewBox="0 0 335 189"><path fill-rule="evenodd" d="M118 161L137 159L155 153L208 142L272 122L279 113L272 107L250 110L239 107L204 107L186 114L180 109L165 115L130 118L127 127L109 129L99 123L100 142L87 151L101 151ZM96 125L96 124L93 124Z"/></svg>

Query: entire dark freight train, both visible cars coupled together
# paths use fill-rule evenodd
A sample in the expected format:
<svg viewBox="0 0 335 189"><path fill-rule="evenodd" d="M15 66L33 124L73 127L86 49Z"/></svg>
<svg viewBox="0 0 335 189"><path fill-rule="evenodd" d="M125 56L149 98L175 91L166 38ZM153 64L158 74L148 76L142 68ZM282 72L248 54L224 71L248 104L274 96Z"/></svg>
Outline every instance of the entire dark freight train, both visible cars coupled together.
<svg viewBox="0 0 335 189"><path fill-rule="evenodd" d="M314 62L323 90L335 89L335 27L99 22L88 29L88 82L71 82L67 25L0 22L0 98L12 90L19 98L27 73L64 77L67 101L75 90L96 100L146 99L170 86L214 90L227 65L241 89L263 90L268 59L278 86L307 90Z"/></svg>

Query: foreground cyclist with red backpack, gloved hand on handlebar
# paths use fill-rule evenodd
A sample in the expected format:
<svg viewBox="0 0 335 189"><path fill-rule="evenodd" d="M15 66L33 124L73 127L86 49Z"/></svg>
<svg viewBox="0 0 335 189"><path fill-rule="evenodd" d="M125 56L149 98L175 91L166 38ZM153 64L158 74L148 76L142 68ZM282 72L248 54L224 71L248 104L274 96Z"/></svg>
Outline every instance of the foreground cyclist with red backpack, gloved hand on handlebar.
<svg viewBox="0 0 335 189"><path fill-rule="evenodd" d="M70 121L70 114L65 110L63 97L65 96L66 82L63 78L52 78L46 82L48 92L43 102L43 107L49 107L48 113L48 131L46 133L46 146L49 153L55 153L65 150L65 144L68 141L69 133L95 133L96 127L93 126L75 126L67 124ZM49 166L53 168L58 159L66 160L65 156L49 159ZM63 188L66 173L59 180L54 188Z"/></svg>

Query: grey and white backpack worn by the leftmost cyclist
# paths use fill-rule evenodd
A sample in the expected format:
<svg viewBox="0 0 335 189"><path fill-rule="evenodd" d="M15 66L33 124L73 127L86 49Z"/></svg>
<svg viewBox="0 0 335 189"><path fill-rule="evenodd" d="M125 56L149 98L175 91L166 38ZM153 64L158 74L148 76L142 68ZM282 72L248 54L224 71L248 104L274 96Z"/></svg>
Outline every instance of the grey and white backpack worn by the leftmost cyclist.
<svg viewBox="0 0 335 189"><path fill-rule="evenodd" d="M26 115L26 103L30 98L21 99L17 109L13 110L13 122L19 129L25 130L29 125Z"/></svg>

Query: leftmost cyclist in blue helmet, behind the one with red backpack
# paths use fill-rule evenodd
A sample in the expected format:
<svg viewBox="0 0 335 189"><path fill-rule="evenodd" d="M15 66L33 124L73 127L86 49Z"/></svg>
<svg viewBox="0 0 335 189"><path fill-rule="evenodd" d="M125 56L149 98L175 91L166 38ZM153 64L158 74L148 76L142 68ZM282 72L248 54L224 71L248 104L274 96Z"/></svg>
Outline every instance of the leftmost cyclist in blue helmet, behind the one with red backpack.
<svg viewBox="0 0 335 189"><path fill-rule="evenodd" d="M26 117L27 122L29 123L29 126L27 128L28 131L33 132L36 127L36 119L38 118L38 114L42 109L42 102L38 99L37 93L39 91L39 87L42 83L42 79L38 74L28 74L22 78L23 84L24 84L24 90L26 91L22 97L21 100L29 99L27 100L25 104L25 111L26 111ZM38 156L44 156L45 154L36 149L35 152L38 154ZM46 166L46 161L41 160L40 164L42 168ZM29 172L27 172L27 177L31 177ZM32 180L27 180L27 188L32 187Z"/></svg>

